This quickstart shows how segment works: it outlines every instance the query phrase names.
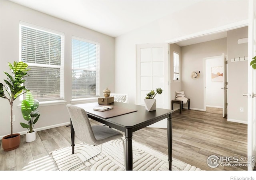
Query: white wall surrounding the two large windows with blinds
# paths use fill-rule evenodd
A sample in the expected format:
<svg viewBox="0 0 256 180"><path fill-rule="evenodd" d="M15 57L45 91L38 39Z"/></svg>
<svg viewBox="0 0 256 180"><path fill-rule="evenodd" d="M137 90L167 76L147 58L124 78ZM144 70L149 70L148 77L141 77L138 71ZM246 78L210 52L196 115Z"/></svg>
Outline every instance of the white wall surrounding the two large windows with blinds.
<svg viewBox="0 0 256 180"><path fill-rule="evenodd" d="M64 95L66 104L70 103L71 100L72 36L78 36L80 38L100 42L100 92L102 93L106 87L114 92L114 38L35 10L31 10L10 1L0 1L0 82L3 82L3 79L6 78L3 71L9 72L8 62L19 61L20 21L63 32L65 34ZM100 95L103 96L103 93ZM95 102L97 101L98 100L96 99ZM26 129L22 128L19 123L24 122L21 111L18 108L19 103L19 100L14 102L14 115L16 116L16 122L13 124L14 133L26 132ZM40 106L39 110L41 116L34 128L43 129L52 126L59 126L61 124L68 124L70 122L70 118L66 110L66 104ZM0 107L1 138L4 135L10 134L10 106L7 100L0 98Z"/></svg>

